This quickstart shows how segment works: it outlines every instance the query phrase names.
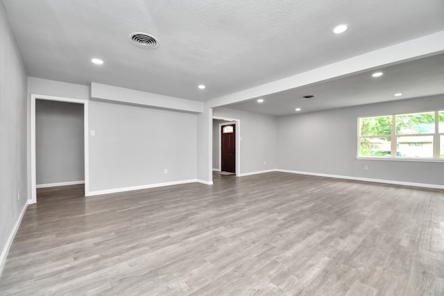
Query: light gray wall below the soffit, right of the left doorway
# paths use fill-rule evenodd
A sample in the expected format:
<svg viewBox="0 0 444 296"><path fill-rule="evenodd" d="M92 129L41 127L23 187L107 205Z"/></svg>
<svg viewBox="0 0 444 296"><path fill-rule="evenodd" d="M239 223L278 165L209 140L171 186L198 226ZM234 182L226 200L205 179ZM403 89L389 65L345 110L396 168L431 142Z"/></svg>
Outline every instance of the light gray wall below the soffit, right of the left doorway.
<svg viewBox="0 0 444 296"><path fill-rule="evenodd" d="M196 114L89 101L89 130L90 191L196 179Z"/></svg>

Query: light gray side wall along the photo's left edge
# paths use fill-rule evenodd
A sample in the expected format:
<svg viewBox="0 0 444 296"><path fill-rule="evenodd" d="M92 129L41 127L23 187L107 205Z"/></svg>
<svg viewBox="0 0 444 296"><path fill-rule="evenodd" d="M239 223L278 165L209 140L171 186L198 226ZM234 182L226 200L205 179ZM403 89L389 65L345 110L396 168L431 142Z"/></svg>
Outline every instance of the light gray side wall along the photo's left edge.
<svg viewBox="0 0 444 296"><path fill-rule="evenodd" d="M26 164L26 71L0 2L0 254L3 255L28 200Z"/></svg>

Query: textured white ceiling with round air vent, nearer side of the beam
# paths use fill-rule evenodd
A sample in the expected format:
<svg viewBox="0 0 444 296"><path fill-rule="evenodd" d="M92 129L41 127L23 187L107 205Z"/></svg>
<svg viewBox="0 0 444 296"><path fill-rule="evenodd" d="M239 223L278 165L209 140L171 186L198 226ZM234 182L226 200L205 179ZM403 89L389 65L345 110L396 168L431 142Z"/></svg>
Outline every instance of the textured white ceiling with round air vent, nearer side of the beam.
<svg viewBox="0 0 444 296"><path fill-rule="evenodd" d="M196 101L444 30L442 0L3 4L29 76L99 82ZM343 23L350 29L334 35L332 28ZM154 35L160 46L133 46L128 35L134 32ZM105 64L96 66L91 58ZM207 88L202 91L199 84ZM276 107L273 112L282 111Z"/></svg>

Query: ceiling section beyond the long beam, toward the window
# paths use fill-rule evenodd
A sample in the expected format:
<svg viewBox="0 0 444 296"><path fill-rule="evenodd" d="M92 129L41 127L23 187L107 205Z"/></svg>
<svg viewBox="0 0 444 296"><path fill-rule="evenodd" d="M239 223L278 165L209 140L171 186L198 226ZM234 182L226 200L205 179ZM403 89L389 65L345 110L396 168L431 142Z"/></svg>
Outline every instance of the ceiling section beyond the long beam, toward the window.
<svg viewBox="0 0 444 296"><path fill-rule="evenodd" d="M377 71L384 74L373 78ZM438 94L444 94L444 53L259 97L263 103L253 98L225 107L279 116ZM315 97L302 100L305 95Z"/></svg>

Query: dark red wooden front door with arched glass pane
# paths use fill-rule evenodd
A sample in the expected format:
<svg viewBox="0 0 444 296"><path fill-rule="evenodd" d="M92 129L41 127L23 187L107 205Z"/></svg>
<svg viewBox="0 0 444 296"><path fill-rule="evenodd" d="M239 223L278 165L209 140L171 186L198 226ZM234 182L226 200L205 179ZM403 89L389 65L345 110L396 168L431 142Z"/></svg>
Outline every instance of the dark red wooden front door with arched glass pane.
<svg viewBox="0 0 444 296"><path fill-rule="evenodd" d="M236 125L223 125L221 128L221 171L236 173Z"/></svg>

